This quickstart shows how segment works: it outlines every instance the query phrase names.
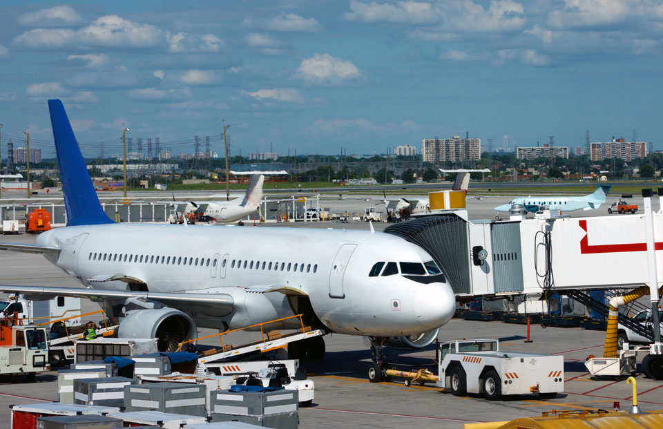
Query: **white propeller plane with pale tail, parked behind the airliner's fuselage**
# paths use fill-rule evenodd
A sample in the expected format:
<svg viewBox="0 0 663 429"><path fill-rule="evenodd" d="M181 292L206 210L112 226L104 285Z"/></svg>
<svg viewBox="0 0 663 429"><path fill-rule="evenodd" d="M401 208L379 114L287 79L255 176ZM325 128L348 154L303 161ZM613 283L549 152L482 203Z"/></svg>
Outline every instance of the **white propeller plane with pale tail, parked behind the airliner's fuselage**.
<svg viewBox="0 0 663 429"><path fill-rule="evenodd" d="M184 205L184 209L176 210L183 216L188 217L196 211L202 209L203 216L212 218L216 222L235 222L242 218L246 218L252 213L256 213L260 209L260 201L262 200L262 184L265 182L265 176L262 174L251 175L251 181L247 188L247 193L244 198L235 198L230 201L209 201L209 202L193 202L193 201L163 201L168 204L177 204L177 206ZM177 218L180 216L178 215Z"/></svg>

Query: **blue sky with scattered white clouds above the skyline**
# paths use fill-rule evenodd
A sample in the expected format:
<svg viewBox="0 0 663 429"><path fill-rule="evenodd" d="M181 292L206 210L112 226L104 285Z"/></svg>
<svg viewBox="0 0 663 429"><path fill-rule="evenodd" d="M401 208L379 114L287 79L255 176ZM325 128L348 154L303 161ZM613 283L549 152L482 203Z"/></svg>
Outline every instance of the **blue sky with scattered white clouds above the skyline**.
<svg viewBox="0 0 663 429"><path fill-rule="evenodd" d="M574 147L634 128L663 149L662 34L651 0L7 2L3 159L28 129L48 156L54 97L86 155L117 153L122 124L173 152L224 123L233 154L465 131Z"/></svg>

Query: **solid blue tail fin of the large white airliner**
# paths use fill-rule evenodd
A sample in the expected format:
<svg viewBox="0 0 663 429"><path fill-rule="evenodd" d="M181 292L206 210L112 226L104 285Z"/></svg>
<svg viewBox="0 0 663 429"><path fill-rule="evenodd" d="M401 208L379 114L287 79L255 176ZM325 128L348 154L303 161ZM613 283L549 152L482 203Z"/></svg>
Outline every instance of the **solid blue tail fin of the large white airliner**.
<svg viewBox="0 0 663 429"><path fill-rule="evenodd" d="M113 223L99 204L62 102L59 99L48 100L48 110L67 209L67 226Z"/></svg>

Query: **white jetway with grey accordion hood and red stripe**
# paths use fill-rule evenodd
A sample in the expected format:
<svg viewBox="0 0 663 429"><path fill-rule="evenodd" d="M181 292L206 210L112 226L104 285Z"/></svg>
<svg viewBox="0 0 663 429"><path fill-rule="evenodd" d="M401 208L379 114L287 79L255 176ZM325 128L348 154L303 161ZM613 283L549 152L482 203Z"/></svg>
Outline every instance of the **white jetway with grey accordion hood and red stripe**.
<svg viewBox="0 0 663 429"><path fill-rule="evenodd" d="M663 188L659 195L663 207ZM516 295L545 300L557 292L604 316L615 308L605 354L616 354L619 322L651 339L646 374L663 379L658 312L663 211L653 211L651 196L651 189L644 189L644 213L631 216L570 218L543 211L534 218L514 214L470 222L467 211L432 211L385 232L426 249L460 300ZM611 307L593 298L592 289L605 290ZM615 306L642 296L649 298L652 329Z"/></svg>

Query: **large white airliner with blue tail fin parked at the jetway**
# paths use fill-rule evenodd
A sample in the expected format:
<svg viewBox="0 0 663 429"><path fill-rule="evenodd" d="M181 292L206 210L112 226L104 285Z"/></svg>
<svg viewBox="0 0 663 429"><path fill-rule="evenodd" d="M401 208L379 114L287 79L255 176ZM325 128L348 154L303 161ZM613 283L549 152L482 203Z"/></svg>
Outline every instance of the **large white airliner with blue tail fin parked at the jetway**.
<svg viewBox="0 0 663 429"><path fill-rule="evenodd" d="M303 314L325 332L369 336L378 374L383 345L396 337L425 347L452 318L454 293L433 258L389 233L111 221L64 106L48 107L67 226L41 233L36 245L0 249L43 254L84 288L0 285L0 292L91 298L120 323L119 336L157 338L160 350L195 338L197 326L224 331ZM295 320L269 326L300 327ZM311 358L325 353L321 337L300 343Z"/></svg>

